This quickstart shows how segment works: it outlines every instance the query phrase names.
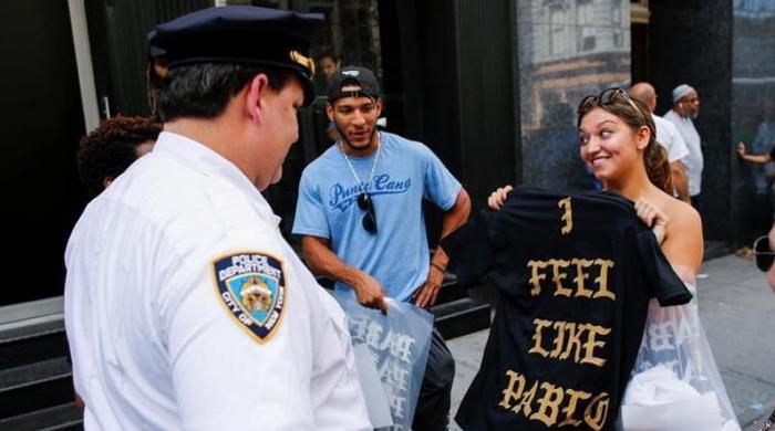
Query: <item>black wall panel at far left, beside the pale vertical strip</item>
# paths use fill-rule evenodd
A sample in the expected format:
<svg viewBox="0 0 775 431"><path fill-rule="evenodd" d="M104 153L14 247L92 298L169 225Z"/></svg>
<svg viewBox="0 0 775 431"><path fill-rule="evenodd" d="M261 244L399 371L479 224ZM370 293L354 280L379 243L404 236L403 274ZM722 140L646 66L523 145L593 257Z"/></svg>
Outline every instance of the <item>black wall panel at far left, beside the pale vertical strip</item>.
<svg viewBox="0 0 775 431"><path fill-rule="evenodd" d="M0 305L62 294L64 246L85 202L84 132L65 0L0 3L4 276Z"/></svg>

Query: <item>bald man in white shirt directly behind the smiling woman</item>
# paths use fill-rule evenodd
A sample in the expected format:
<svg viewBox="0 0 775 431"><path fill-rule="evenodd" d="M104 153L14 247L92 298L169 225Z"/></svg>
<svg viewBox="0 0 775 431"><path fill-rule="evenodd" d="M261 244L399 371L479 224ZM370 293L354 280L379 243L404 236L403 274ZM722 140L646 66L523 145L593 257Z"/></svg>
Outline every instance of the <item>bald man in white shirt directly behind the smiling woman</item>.
<svg viewBox="0 0 775 431"><path fill-rule="evenodd" d="M689 185L686 182L683 162L681 161L689 155L686 144L684 144L681 134L679 134L672 123L654 114L657 109L657 91L651 84L648 82L637 83L628 93L630 93L633 98L643 102L651 111L651 117L654 119L654 126L657 127L657 144L661 145L668 153L668 161L670 161L670 174L673 177L675 196L682 201L689 202Z"/></svg>

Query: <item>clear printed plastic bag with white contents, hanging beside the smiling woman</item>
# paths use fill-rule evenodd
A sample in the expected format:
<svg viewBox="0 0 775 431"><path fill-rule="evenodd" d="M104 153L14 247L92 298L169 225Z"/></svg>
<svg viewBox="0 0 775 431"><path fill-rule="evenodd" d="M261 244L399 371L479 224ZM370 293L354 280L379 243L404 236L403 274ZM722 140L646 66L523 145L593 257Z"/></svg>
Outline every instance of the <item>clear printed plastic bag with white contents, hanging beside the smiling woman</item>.
<svg viewBox="0 0 775 431"><path fill-rule="evenodd" d="M738 431L732 403L700 322L693 274L678 271L694 295L688 304L649 303L643 339L621 404L619 428Z"/></svg>

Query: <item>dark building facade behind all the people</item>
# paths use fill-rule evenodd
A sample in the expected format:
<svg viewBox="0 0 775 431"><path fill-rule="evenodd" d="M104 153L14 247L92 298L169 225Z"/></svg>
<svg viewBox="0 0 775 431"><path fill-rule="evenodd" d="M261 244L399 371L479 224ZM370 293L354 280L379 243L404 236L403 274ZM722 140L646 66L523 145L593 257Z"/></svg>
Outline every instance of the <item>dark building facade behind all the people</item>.
<svg viewBox="0 0 775 431"><path fill-rule="evenodd" d="M775 99L772 1L8 2L0 28L14 43L2 45L0 82L10 134L3 175L12 186L3 240L14 251L7 264L14 287L0 305L61 295L64 245L86 204L75 172L79 137L112 115L146 115L145 32L216 3L324 13L313 55L375 70L388 128L426 143L475 208L505 183L592 187L578 158L576 105L585 95L648 80L662 114L671 90L689 83L702 99L706 240L736 248L768 227L772 209L755 199L767 171L742 164L734 146L756 141L764 153L772 145L756 140L775 123L767 105ZM286 232L301 170L330 145L323 107L301 115L286 178L267 193Z"/></svg>

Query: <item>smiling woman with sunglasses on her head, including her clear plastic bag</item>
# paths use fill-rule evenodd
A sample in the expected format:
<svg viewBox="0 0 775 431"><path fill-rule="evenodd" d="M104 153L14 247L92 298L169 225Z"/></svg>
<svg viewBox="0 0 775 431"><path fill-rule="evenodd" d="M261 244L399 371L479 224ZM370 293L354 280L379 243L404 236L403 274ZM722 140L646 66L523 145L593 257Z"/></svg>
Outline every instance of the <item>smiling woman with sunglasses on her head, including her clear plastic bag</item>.
<svg viewBox="0 0 775 431"><path fill-rule="evenodd" d="M638 218L651 227L674 273L696 297L694 278L703 254L700 216L669 195L670 168L654 140L648 108L610 88L585 97L578 114L581 159L607 191L636 201ZM489 206L499 209L510 190L507 186L493 192ZM630 377L621 407L623 429L740 429L695 298L664 307L651 299Z"/></svg>

